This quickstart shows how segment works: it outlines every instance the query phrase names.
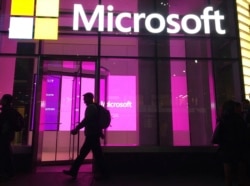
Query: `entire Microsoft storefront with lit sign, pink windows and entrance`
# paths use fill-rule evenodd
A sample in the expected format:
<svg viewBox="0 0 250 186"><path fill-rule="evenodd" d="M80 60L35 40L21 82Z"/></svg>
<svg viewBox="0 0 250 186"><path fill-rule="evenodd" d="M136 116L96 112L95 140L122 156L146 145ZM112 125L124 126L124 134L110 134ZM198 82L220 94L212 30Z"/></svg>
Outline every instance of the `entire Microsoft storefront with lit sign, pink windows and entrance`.
<svg viewBox="0 0 250 186"><path fill-rule="evenodd" d="M27 123L15 143L72 159L90 91L112 114L104 146L211 146L221 104L250 92L242 2L2 1L0 95L14 94Z"/></svg>

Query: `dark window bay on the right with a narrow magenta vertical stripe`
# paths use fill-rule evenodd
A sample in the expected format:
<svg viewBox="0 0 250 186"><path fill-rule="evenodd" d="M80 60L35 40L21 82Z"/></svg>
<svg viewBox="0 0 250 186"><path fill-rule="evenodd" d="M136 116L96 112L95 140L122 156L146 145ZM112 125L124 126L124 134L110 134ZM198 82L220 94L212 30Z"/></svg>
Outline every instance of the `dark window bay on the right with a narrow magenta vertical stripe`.
<svg viewBox="0 0 250 186"><path fill-rule="evenodd" d="M212 62L159 61L158 78L161 145L210 145L216 124Z"/></svg>

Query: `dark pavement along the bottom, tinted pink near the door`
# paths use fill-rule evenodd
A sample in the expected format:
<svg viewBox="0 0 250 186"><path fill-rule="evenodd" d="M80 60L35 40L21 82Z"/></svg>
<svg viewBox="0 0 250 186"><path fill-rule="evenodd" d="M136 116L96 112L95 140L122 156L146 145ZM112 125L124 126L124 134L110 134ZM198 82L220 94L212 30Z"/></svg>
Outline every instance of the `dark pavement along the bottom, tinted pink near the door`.
<svg viewBox="0 0 250 186"><path fill-rule="evenodd" d="M223 186L223 176L217 173L112 173L107 180L96 181L92 166L82 165L76 180L62 173L68 166L43 166L33 173L18 173L0 186Z"/></svg>

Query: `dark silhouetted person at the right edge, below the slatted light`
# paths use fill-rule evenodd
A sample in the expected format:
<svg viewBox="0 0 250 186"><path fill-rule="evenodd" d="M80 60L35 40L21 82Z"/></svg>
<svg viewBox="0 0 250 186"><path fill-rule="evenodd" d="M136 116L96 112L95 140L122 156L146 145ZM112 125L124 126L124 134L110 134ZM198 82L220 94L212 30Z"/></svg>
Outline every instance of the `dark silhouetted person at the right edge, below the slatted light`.
<svg viewBox="0 0 250 186"><path fill-rule="evenodd" d="M226 186L232 186L234 178L238 179L240 185L248 183L246 128L241 104L232 100L226 101L213 136L213 143L219 145Z"/></svg>

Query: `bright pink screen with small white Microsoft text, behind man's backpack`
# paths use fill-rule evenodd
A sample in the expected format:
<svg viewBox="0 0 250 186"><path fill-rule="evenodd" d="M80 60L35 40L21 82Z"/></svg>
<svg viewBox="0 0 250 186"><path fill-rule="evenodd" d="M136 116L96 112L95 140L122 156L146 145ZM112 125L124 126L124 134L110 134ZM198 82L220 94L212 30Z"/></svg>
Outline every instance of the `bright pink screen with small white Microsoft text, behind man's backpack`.
<svg viewBox="0 0 250 186"><path fill-rule="evenodd" d="M112 115L109 131L136 131L135 76L109 76L107 108Z"/></svg>

